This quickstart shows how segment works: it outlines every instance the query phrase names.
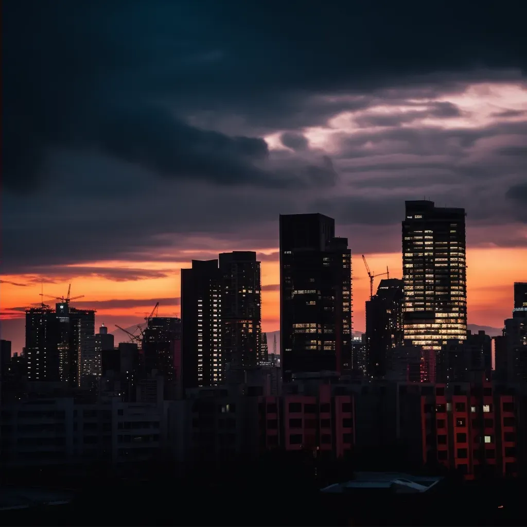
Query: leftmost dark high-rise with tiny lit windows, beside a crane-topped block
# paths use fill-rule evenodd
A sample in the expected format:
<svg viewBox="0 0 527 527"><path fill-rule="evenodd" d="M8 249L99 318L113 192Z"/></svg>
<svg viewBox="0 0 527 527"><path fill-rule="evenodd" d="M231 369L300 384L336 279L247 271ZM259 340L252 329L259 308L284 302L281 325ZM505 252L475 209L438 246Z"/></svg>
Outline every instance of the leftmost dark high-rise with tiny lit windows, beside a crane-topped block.
<svg viewBox="0 0 527 527"><path fill-rule="evenodd" d="M27 380L60 381L58 337L57 318L50 306L26 310Z"/></svg>

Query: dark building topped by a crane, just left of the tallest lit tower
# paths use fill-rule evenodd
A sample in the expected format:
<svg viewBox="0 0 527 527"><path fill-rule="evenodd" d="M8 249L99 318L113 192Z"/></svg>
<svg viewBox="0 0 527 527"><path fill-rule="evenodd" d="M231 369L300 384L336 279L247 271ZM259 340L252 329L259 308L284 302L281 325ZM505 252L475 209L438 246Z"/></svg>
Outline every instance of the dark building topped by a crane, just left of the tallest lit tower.
<svg viewBox="0 0 527 527"><path fill-rule="evenodd" d="M403 280L381 280L366 301L366 356L370 377L386 375L389 355L403 344Z"/></svg>

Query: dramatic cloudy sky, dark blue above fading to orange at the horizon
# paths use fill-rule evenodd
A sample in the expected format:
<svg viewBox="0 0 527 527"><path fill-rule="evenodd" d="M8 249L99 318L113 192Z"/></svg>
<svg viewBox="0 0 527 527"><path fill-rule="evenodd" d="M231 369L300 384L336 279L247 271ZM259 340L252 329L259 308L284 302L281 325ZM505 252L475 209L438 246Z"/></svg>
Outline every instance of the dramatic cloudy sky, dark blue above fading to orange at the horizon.
<svg viewBox="0 0 527 527"><path fill-rule="evenodd" d="M323 212L401 275L404 200L465 207L469 323L527 280L517 4L4 0L2 338L45 294L131 325L192 258L252 249L278 329L278 214Z"/></svg>

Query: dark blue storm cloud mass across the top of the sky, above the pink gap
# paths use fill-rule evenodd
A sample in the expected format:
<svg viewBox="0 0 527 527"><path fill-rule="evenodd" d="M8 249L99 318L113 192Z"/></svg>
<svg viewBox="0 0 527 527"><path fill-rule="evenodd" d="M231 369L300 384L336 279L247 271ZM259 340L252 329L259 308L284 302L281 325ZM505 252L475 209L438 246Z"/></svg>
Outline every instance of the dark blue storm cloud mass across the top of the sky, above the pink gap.
<svg viewBox="0 0 527 527"><path fill-rule="evenodd" d="M6 187L24 190L49 147L72 145L174 177L265 184L271 175L277 185L251 164L265 154L258 139L211 137L150 103L170 100L186 115L221 105L270 115L275 96L382 86L475 65L525 67L521 17L460 5L455 17L446 9L429 16L417 6L7 0Z"/></svg>

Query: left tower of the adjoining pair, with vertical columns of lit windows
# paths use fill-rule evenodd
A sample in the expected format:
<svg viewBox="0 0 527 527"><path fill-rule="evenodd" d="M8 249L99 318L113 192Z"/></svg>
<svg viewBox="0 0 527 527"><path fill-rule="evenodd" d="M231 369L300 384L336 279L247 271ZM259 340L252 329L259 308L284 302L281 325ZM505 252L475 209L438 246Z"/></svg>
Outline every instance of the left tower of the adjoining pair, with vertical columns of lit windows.
<svg viewBox="0 0 527 527"><path fill-rule="evenodd" d="M181 371L183 388L223 380L222 279L218 260L192 260L181 269Z"/></svg>

